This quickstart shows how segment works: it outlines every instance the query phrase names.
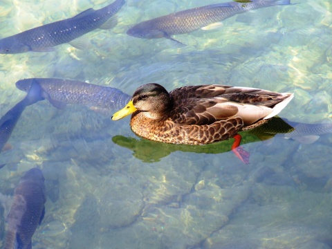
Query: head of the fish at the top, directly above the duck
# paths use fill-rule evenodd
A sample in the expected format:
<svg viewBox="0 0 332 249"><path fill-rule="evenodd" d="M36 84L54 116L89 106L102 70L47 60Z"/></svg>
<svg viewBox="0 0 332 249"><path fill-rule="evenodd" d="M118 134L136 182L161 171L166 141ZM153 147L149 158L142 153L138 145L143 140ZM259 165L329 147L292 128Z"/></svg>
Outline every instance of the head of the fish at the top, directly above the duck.
<svg viewBox="0 0 332 249"><path fill-rule="evenodd" d="M129 28L129 30L127 30L127 35L142 39L156 39L165 37L165 32L163 30L158 30L146 22L142 22Z"/></svg>

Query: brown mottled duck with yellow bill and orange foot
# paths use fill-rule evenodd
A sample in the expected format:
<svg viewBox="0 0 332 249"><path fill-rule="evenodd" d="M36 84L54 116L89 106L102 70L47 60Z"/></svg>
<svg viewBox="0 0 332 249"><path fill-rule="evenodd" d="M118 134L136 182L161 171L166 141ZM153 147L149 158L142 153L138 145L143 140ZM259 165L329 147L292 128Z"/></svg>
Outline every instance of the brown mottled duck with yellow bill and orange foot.
<svg viewBox="0 0 332 249"><path fill-rule="evenodd" d="M268 122L293 96L219 84L182 86L168 92L160 84L149 83L139 86L112 120L131 114L133 133L157 142L206 145L234 138L232 150L241 157L245 153L239 147L239 131Z"/></svg>

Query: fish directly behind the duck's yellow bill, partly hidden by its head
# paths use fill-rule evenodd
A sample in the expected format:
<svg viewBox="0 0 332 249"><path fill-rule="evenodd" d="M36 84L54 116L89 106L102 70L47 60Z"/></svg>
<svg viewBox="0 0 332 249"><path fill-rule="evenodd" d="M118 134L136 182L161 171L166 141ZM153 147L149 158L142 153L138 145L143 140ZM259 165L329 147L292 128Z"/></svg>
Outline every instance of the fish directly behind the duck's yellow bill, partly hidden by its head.
<svg viewBox="0 0 332 249"><path fill-rule="evenodd" d="M95 109L119 109L131 99L122 91L74 80L33 78L16 82L18 89L28 91L33 81L42 87L42 97L54 107L64 109L66 104L82 104Z"/></svg>

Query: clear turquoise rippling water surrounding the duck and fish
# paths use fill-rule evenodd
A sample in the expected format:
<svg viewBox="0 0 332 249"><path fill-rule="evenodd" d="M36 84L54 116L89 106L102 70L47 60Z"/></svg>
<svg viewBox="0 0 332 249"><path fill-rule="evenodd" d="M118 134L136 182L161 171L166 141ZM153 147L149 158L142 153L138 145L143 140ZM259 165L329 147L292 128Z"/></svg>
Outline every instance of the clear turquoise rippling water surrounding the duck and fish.
<svg viewBox="0 0 332 249"><path fill-rule="evenodd" d="M107 3L2 0L0 34ZM219 2L203 4L210 3ZM253 10L216 30L176 35L185 48L125 33L140 21L201 5L128 0L115 28L85 35L88 50L62 44L50 53L0 55L0 115L24 98L17 80L59 77L129 94L147 82L168 90L213 83L292 92L280 116L331 122L330 1ZM227 149L195 153L141 141L129 118L110 120L114 111L62 111L42 101L22 114L8 141L13 148L0 154L7 163L0 192L12 195L26 170L43 169L46 216L33 248L332 248L331 134L311 144L283 136L247 143L244 165Z"/></svg>

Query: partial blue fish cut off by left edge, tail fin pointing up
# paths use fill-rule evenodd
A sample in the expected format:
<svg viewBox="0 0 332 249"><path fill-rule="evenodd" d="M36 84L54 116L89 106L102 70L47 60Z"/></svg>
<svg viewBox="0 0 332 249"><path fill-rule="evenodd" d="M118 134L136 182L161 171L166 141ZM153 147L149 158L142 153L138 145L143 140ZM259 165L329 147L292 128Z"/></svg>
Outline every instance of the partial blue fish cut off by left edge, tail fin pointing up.
<svg viewBox="0 0 332 249"><path fill-rule="evenodd" d="M0 151L6 142L10 138L12 130L15 128L19 117L26 107L31 104L35 104L39 100L44 100L41 95L42 89L39 84L34 80L31 82L31 88L28 91L26 97L18 102L15 107L12 107L1 119L0 119Z"/></svg>

